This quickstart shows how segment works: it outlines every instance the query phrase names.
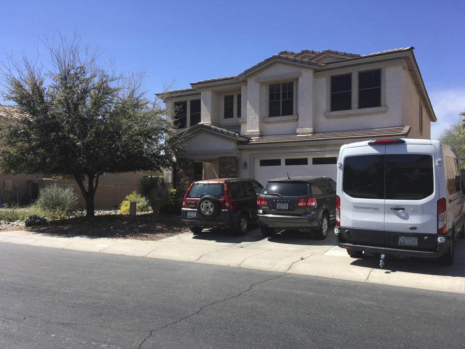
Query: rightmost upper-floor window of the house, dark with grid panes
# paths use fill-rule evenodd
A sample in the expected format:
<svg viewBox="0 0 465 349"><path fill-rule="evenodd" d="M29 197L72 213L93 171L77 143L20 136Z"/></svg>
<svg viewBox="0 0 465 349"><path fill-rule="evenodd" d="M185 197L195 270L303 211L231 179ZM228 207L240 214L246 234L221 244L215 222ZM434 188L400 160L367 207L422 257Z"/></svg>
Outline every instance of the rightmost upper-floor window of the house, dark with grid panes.
<svg viewBox="0 0 465 349"><path fill-rule="evenodd" d="M381 70L358 72L358 108L381 106Z"/></svg>

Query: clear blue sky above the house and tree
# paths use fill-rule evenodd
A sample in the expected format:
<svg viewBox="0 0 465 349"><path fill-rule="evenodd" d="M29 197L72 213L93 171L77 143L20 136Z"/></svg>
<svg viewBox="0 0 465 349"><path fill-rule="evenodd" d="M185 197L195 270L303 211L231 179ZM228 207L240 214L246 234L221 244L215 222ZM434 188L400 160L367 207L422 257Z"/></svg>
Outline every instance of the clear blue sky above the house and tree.
<svg viewBox="0 0 465 349"><path fill-rule="evenodd" d="M2 0L0 8L1 62L76 30L100 46L103 62L146 71L149 95L173 80L182 89L239 74L281 50L414 46L438 119L433 138L465 109L465 1Z"/></svg>

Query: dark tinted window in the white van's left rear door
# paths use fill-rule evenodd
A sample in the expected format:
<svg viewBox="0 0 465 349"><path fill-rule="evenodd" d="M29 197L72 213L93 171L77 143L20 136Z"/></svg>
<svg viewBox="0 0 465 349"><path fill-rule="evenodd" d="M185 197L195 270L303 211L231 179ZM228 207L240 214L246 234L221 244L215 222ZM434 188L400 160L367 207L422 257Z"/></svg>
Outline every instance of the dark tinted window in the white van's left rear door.
<svg viewBox="0 0 465 349"><path fill-rule="evenodd" d="M345 158L342 190L354 198L384 199L384 162L384 155Z"/></svg>

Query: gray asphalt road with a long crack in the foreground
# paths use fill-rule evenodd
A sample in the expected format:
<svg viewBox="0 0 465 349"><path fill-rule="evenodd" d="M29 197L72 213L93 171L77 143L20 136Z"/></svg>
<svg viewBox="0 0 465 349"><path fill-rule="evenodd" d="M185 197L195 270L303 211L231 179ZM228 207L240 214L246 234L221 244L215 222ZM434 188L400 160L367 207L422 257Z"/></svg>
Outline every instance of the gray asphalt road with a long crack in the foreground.
<svg viewBox="0 0 465 349"><path fill-rule="evenodd" d="M462 348L465 295L0 243L0 348Z"/></svg>

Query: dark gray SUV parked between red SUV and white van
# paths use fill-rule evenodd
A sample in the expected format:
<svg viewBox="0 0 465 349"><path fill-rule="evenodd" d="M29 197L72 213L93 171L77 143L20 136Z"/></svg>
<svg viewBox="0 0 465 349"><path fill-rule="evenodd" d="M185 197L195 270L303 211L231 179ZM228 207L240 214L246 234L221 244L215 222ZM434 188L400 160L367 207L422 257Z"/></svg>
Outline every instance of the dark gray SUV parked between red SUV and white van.
<svg viewBox="0 0 465 349"><path fill-rule="evenodd" d="M268 181L257 198L258 222L262 234L275 229L328 235L336 217L336 182L328 177L285 177Z"/></svg>

